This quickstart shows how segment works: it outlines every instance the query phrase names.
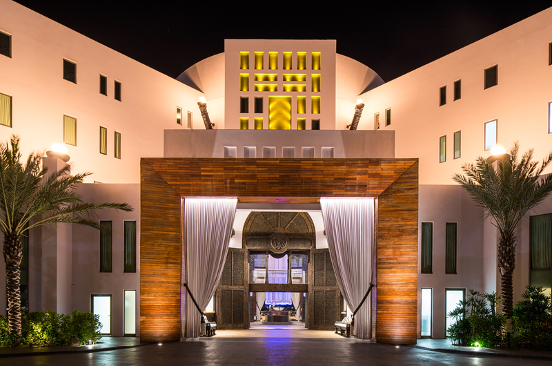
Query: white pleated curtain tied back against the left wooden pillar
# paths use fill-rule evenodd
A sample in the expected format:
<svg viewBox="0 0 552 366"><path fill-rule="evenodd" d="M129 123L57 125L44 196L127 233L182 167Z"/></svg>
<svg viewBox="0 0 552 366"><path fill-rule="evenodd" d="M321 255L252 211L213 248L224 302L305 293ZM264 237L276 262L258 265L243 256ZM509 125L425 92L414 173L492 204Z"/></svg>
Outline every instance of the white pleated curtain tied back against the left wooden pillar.
<svg viewBox="0 0 552 366"><path fill-rule="evenodd" d="M197 305L205 311L219 284L232 234L236 198L186 198L186 276ZM186 337L201 335L199 311L186 291Z"/></svg>

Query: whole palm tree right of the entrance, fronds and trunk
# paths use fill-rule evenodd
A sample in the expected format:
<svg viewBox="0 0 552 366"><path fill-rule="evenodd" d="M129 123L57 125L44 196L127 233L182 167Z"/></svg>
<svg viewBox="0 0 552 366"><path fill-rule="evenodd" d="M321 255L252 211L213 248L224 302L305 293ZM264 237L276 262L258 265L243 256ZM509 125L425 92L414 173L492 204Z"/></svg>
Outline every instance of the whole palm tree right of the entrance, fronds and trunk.
<svg viewBox="0 0 552 366"><path fill-rule="evenodd" d="M552 192L552 174L541 176L552 162L552 153L542 163L533 162L533 149L519 155L515 142L510 155L497 160L497 167L489 159L477 157L475 164L462 165L464 175L455 174L471 198L491 216L498 228L498 270L502 293L502 314L513 316L512 275L515 267L515 229L527 211L538 206Z"/></svg>

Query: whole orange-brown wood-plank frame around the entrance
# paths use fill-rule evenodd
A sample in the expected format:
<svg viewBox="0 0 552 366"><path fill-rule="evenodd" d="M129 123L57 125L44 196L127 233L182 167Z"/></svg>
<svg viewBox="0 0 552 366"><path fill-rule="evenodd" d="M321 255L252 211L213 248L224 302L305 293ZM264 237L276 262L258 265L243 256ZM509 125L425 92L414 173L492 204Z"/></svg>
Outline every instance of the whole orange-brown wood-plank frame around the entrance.
<svg viewBox="0 0 552 366"><path fill-rule="evenodd" d="M417 159L143 158L140 171L142 342L181 339L184 198L219 196L301 204L377 198L373 336L378 343L416 343Z"/></svg>

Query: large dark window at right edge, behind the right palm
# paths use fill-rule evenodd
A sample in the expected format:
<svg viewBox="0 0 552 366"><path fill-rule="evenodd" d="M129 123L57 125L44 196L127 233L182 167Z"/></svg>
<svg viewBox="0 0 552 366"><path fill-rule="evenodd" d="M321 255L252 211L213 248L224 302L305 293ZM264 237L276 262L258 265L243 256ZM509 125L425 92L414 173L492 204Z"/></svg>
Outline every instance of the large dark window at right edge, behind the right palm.
<svg viewBox="0 0 552 366"><path fill-rule="evenodd" d="M552 287L552 213L529 218L531 274L529 285L542 286L548 296Z"/></svg>

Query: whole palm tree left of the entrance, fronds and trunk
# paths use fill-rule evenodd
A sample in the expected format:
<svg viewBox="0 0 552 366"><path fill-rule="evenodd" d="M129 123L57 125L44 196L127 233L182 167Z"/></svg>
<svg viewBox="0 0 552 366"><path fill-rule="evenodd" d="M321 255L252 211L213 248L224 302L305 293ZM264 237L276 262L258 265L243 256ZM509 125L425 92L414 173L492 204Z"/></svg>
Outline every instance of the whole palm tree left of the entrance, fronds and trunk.
<svg viewBox="0 0 552 366"><path fill-rule="evenodd" d="M12 136L0 144L0 231L3 233L3 256L6 261L8 291L8 324L10 332L21 335L19 281L21 271L21 235L33 227L57 222L72 222L99 229L92 220L97 209L132 211L126 203L86 203L75 192L83 177L90 173L70 175L66 165L48 177L42 167L42 154L31 153L21 163L19 137Z"/></svg>

